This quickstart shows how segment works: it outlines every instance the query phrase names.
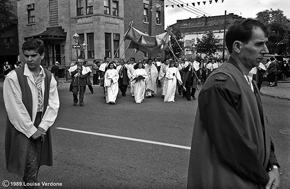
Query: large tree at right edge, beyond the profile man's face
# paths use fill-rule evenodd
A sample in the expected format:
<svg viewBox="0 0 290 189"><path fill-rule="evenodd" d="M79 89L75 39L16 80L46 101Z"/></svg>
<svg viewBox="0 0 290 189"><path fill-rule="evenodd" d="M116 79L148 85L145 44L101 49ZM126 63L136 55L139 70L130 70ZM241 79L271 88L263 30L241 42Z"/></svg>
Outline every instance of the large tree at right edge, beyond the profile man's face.
<svg viewBox="0 0 290 189"><path fill-rule="evenodd" d="M290 20L279 9L261 11L256 16L256 19L263 21L269 29L267 44L269 53L284 54L288 43L287 40L290 40ZM277 44L280 42L281 44Z"/></svg>

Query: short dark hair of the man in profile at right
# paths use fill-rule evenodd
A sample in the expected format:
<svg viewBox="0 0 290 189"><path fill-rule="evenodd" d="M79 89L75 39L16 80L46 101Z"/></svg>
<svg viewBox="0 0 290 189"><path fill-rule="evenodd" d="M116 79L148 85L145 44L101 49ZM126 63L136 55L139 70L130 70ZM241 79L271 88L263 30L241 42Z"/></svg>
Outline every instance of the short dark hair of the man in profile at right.
<svg viewBox="0 0 290 189"><path fill-rule="evenodd" d="M235 41L241 41L243 43L248 43L253 35L253 28L259 27L268 36L268 30L266 25L252 18L236 20L231 23L226 33L226 44L230 53L233 53L233 44Z"/></svg>

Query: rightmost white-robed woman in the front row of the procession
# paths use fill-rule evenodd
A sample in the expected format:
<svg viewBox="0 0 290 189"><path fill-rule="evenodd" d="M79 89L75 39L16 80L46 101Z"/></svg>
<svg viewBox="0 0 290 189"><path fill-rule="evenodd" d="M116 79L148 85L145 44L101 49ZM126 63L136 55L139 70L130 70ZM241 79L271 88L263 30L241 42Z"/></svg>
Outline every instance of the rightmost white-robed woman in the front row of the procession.
<svg viewBox="0 0 290 189"><path fill-rule="evenodd" d="M164 102L175 102L176 81L182 85L182 80L178 68L174 67L173 59L169 59L169 65L164 82Z"/></svg>

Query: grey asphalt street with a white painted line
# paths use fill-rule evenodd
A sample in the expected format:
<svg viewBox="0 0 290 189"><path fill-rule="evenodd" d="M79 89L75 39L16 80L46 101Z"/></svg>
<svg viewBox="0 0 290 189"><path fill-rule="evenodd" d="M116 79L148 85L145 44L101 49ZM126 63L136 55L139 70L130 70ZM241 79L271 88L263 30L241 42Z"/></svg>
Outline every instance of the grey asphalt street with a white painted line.
<svg viewBox="0 0 290 189"><path fill-rule="evenodd" d="M54 164L40 168L39 181L62 186L41 188L186 188L197 100L176 94L175 102L163 102L159 94L136 104L128 88L127 96L119 94L112 105L105 103L103 89L94 86L94 94L87 88L81 107L73 106L68 89L58 92L60 108L51 130ZM0 96L4 134L3 88ZM281 131L290 129L290 101L263 96L262 102L283 172L280 188L286 189L290 187L290 138ZM7 172L4 135L0 141L0 181L22 181Z"/></svg>

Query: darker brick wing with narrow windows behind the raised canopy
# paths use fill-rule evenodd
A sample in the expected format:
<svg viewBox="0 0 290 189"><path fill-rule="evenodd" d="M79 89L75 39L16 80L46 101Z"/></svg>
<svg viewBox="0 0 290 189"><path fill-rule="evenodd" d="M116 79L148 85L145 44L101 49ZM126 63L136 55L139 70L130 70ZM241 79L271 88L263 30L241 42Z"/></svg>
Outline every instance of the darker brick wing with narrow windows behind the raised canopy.
<svg viewBox="0 0 290 189"><path fill-rule="evenodd" d="M126 0L124 4L124 29L125 32L129 27L129 23L133 21L132 26L137 30L149 34L149 27L152 27L151 35L159 35L164 33L164 0L152 0L152 6L150 1L146 0ZM151 8L151 9L150 9ZM150 10L152 11L152 22L150 22ZM125 48L129 45L130 41L125 40ZM125 57L129 57L133 49L128 49L125 52ZM143 52L137 52L133 54L137 60L148 59L151 57L164 57L164 53L148 54Z"/></svg>

